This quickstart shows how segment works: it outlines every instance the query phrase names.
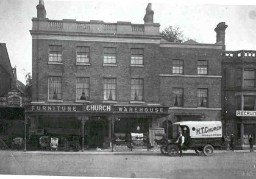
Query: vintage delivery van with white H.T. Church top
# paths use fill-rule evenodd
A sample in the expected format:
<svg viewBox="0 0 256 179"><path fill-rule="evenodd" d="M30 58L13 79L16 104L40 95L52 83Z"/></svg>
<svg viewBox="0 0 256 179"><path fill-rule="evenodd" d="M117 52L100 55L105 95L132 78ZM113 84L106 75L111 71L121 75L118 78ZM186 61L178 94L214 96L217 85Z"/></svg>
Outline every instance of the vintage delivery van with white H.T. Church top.
<svg viewBox="0 0 256 179"><path fill-rule="evenodd" d="M173 125L179 126L185 137L182 150L193 149L197 154L204 153L205 156L211 156L215 148L222 146L221 121L182 121ZM166 149L170 156L179 153L175 141L168 142Z"/></svg>

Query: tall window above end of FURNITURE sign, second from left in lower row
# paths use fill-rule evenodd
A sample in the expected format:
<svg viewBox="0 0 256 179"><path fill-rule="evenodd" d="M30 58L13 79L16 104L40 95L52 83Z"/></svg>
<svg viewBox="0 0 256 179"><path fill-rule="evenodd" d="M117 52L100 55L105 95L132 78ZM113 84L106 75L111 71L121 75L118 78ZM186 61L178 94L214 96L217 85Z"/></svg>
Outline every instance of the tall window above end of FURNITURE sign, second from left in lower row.
<svg viewBox="0 0 256 179"><path fill-rule="evenodd" d="M89 96L89 78L76 78L76 100L90 100Z"/></svg>

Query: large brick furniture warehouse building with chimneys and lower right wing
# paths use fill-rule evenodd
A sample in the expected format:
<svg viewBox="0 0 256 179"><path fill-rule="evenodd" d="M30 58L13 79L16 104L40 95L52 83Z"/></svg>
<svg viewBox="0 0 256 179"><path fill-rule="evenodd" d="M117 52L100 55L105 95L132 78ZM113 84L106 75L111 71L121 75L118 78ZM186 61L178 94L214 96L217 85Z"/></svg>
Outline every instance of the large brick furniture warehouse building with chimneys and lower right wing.
<svg viewBox="0 0 256 179"><path fill-rule="evenodd" d="M176 135L173 122L220 120L225 23L216 44L199 44L162 40L151 4L144 24L132 24L49 20L40 1L32 22L29 138L109 147L139 133L152 144L154 131Z"/></svg>

